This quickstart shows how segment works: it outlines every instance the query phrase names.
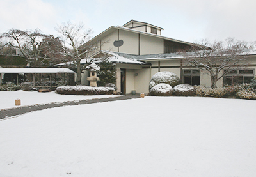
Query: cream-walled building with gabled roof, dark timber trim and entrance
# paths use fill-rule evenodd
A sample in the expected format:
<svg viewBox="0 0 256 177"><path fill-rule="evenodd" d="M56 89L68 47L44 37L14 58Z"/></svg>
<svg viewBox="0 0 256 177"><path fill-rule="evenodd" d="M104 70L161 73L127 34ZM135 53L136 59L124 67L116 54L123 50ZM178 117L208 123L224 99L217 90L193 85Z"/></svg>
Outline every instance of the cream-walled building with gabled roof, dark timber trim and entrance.
<svg viewBox="0 0 256 177"><path fill-rule="evenodd" d="M104 43L92 58L109 56L116 63L116 86L124 94L131 93L132 90L136 93L149 93L150 79L160 71L173 72L182 82L188 84L211 86L209 75L196 68L183 66L182 56L175 53L196 44L161 36L161 30L163 28L136 20L131 20L124 26L111 26L90 40L99 41L99 45ZM224 80L220 79L217 85L236 82L236 78L242 78L243 82L250 81L255 77L255 59L255 55L250 56L250 65L246 67L246 72L237 70L230 73ZM84 71L82 84L88 85L86 77L88 72Z"/></svg>

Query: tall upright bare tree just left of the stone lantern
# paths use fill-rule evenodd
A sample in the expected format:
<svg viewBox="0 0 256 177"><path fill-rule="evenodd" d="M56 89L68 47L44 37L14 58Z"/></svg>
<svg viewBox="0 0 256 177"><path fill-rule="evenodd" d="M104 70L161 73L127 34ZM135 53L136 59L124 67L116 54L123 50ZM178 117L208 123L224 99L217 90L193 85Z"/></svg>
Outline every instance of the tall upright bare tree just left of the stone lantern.
<svg viewBox="0 0 256 177"><path fill-rule="evenodd" d="M88 54L92 54L96 49L99 49L99 42L88 42L91 38L92 29L84 31L83 24L66 22L58 26L56 30L62 35L66 59L72 60L67 64L76 68L76 83L79 85L81 84L81 73L85 68L85 65L81 66L81 59L87 60Z"/></svg>

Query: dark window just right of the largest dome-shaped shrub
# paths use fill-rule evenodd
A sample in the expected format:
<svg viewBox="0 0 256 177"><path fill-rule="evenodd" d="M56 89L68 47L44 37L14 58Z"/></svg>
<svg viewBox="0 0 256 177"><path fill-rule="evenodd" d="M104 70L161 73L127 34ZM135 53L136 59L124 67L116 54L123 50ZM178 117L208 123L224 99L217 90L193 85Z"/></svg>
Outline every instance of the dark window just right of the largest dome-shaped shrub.
<svg viewBox="0 0 256 177"><path fill-rule="evenodd" d="M200 85L200 70L183 70L183 77L185 84Z"/></svg>

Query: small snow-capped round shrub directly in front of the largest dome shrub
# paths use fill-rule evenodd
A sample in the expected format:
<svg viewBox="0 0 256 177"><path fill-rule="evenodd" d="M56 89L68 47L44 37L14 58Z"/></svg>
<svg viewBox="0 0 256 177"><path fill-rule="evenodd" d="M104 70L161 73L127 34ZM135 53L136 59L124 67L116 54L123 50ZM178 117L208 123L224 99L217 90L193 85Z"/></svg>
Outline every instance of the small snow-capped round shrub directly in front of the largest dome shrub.
<svg viewBox="0 0 256 177"><path fill-rule="evenodd" d="M169 84L157 84L150 89L152 96L172 96L173 88Z"/></svg>

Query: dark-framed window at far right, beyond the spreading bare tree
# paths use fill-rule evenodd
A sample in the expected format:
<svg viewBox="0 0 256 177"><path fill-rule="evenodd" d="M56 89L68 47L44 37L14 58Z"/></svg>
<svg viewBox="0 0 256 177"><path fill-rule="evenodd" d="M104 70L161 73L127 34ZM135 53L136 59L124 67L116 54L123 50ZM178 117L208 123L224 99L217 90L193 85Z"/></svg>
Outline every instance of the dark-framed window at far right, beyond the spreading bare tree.
<svg viewBox="0 0 256 177"><path fill-rule="evenodd" d="M232 84L250 83L253 78L254 78L253 69L232 70L223 77L223 86L232 85Z"/></svg>

